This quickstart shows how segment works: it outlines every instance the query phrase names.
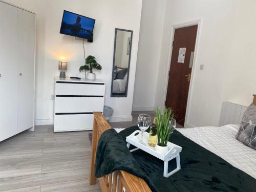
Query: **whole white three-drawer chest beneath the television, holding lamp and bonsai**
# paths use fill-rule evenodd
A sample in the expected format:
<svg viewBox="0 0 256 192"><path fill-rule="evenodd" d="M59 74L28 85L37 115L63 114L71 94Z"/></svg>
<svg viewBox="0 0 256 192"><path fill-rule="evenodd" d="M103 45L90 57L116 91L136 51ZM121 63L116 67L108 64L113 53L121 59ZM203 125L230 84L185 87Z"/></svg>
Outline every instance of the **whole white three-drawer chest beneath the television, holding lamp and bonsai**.
<svg viewBox="0 0 256 192"><path fill-rule="evenodd" d="M103 112L105 83L99 79L55 79L54 132L93 129L93 113Z"/></svg>

